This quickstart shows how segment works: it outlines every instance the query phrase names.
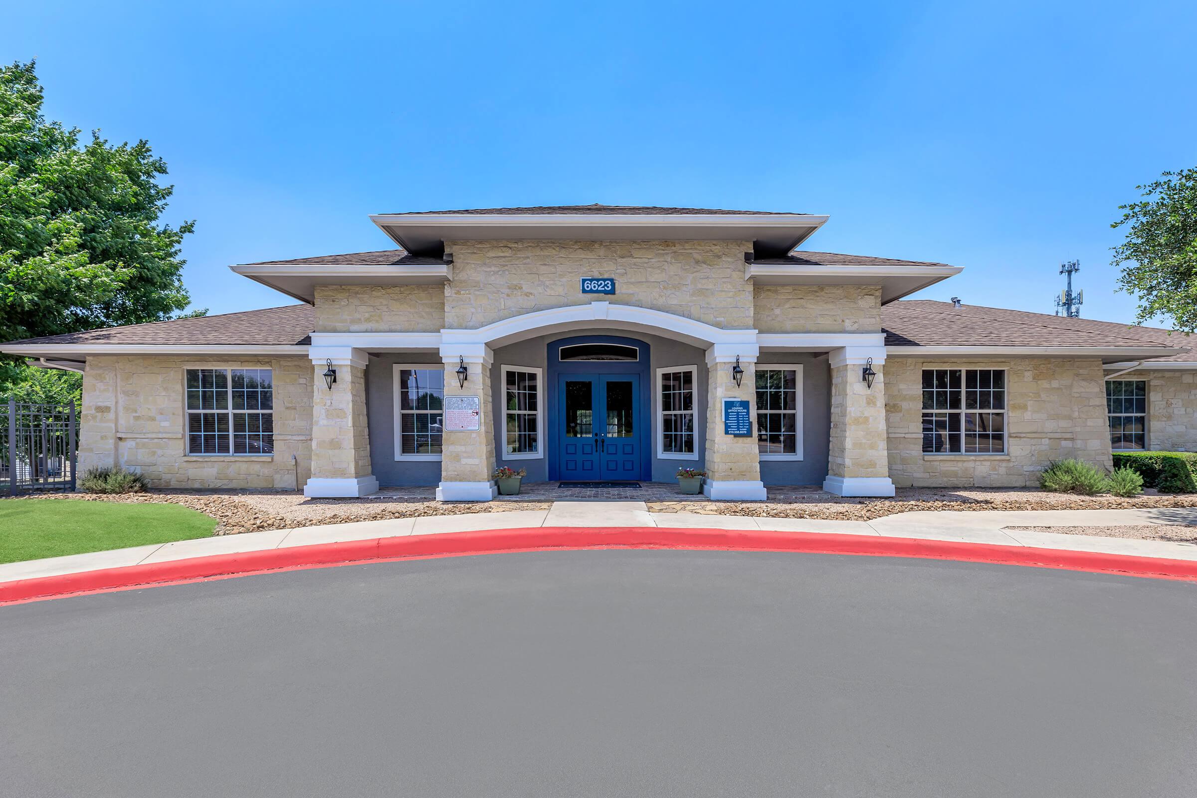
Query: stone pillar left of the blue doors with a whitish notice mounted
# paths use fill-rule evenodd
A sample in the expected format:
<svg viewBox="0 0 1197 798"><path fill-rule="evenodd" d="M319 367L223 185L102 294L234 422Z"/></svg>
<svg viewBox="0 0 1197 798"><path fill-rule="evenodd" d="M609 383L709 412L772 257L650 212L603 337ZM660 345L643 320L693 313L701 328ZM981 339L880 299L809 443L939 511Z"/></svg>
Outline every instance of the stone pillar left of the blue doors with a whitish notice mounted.
<svg viewBox="0 0 1197 798"><path fill-rule="evenodd" d="M494 470L494 413L491 402L493 353L485 343L457 343L440 347L445 365L445 402L454 396L476 396L476 431L445 430L440 455L439 501L490 501L498 493ZM458 385L457 368L464 364L466 382ZM446 425L448 426L448 425Z"/></svg>

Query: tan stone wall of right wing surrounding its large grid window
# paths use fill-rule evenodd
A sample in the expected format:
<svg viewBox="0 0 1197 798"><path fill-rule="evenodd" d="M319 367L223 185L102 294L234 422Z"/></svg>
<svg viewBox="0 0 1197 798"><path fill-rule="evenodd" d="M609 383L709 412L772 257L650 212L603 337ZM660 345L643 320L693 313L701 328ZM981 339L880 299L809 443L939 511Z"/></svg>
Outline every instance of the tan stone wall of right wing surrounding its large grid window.
<svg viewBox="0 0 1197 798"><path fill-rule="evenodd" d="M1005 368L1005 455L924 455L923 368ZM1112 468L1100 360L886 360L889 477L897 486L1034 487L1053 459ZM836 418L834 410L832 418Z"/></svg>

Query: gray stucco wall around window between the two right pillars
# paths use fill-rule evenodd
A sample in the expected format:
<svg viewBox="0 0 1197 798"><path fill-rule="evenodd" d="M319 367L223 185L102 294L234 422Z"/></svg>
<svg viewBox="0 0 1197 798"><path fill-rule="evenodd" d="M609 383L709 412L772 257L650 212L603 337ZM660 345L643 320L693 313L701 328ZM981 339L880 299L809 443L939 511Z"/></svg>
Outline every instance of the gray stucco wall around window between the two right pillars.
<svg viewBox="0 0 1197 798"><path fill-rule="evenodd" d="M767 352L758 365L802 366L802 459L760 462L765 485L822 485L827 476L827 446L831 435L831 366L827 355Z"/></svg>

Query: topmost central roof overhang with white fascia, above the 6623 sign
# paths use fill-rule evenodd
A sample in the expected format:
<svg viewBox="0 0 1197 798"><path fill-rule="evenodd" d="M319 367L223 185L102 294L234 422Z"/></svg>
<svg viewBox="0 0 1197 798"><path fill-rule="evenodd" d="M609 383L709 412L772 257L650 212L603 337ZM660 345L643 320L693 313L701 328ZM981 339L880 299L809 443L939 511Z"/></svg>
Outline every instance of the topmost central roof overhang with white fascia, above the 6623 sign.
<svg viewBox="0 0 1197 798"><path fill-rule="evenodd" d="M614 213L377 213L370 217L413 255L438 256L446 240L751 240L758 255L780 256L827 221L826 215Z"/></svg>

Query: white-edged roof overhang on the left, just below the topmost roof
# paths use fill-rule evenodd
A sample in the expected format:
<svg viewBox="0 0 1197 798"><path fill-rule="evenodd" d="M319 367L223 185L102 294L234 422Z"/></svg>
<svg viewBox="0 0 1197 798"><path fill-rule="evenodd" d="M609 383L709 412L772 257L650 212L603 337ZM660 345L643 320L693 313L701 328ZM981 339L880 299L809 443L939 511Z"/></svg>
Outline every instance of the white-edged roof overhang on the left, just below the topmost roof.
<svg viewBox="0 0 1197 798"><path fill-rule="evenodd" d="M309 305L316 286L419 286L452 279L451 266L378 266L354 263L248 263L230 266L236 274L281 291Z"/></svg>

